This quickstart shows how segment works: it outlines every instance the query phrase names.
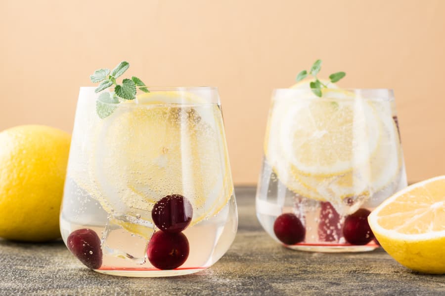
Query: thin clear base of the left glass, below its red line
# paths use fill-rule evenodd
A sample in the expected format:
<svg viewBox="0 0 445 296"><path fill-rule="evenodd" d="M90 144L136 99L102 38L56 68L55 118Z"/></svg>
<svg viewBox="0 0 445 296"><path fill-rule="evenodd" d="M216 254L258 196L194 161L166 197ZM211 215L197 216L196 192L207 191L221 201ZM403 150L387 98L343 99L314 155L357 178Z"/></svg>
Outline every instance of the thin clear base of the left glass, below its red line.
<svg viewBox="0 0 445 296"><path fill-rule="evenodd" d="M167 277L167 276L179 276L191 273L196 273L206 269L205 267L198 268L184 268L173 270L160 270L160 269L94 269L94 271L117 276L126 277Z"/></svg>

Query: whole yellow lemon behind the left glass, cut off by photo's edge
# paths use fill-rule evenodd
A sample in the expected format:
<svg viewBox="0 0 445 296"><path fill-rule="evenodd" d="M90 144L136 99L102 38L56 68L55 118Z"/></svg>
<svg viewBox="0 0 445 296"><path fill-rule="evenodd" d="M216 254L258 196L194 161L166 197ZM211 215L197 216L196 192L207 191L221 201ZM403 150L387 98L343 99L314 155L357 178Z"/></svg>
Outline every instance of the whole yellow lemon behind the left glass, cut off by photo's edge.
<svg viewBox="0 0 445 296"><path fill-rule="evenodd" d="M0 237L27 242L60 237L70 142L68 133L42 125L0 133Z"/></svg>

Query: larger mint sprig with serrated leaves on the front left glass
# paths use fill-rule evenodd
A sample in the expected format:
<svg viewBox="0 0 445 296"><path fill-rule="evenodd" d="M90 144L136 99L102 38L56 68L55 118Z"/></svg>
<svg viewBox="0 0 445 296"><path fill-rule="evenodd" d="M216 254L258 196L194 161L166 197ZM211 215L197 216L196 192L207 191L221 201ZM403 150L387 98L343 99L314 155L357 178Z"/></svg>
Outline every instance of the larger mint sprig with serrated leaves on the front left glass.
<svg viewBox="0 0 445 296"><path fill-rule="evenodd" d="M121 62L112 71L109 69L99 69L89 75L89 79L93 83L99 83L99 86L94 90L96 93L101 92L113 85L114 92L102 93L97 97L96 112L100 118L109 116L116 110L117 106L110 104L119 104L119 98L124 100L134 100L136 98L137 89L143 92L150 92L147 86L139 78L133 76L132 79L123 79L122 84L117 84L116 78L121 76L128 70L130 64L128 62Z"/></svg>

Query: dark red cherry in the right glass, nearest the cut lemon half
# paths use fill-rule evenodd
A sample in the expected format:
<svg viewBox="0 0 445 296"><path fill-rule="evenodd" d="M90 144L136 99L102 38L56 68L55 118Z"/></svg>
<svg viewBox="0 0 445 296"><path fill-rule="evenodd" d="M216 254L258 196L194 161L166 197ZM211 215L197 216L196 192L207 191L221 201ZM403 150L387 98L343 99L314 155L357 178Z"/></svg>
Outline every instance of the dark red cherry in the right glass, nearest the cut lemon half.
<svg viewBox="0 0 445 296"><path fill-rule="evenodd" d="M366 209L358 209L354 214L345 219L343 236L353 245L366 245L374 238L371 227L369 227L368 216L371 214Z"/></svg>

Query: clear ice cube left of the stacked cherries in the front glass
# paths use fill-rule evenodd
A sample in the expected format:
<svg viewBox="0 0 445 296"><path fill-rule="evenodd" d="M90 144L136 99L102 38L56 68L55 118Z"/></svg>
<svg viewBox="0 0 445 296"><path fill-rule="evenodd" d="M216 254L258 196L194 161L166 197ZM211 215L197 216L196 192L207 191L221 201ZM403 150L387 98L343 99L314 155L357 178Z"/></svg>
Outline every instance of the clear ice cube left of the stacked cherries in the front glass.
<svg viewBox="0 0 445 296"><path fill-rule="evenodd" d="M147 215L108 216L101 241L104 256L131 259L139 264L145 262L148 242L155 229L151 221L141 216Z"/></svg>

